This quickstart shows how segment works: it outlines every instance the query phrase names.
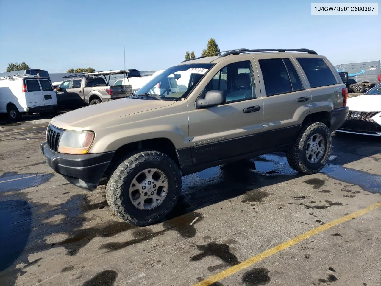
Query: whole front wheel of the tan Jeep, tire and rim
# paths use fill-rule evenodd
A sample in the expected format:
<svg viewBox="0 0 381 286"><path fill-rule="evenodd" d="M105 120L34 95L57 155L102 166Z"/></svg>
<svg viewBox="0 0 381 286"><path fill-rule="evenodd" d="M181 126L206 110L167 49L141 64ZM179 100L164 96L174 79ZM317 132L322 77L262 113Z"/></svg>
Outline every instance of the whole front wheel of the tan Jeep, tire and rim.
<svg viewBox="0 0 381 286"><path fill-rule="evenodd" d="M179 199L180 170L169 156L158 151L130 155L106 185L107 203L132 225L160 222Z"/></svg>

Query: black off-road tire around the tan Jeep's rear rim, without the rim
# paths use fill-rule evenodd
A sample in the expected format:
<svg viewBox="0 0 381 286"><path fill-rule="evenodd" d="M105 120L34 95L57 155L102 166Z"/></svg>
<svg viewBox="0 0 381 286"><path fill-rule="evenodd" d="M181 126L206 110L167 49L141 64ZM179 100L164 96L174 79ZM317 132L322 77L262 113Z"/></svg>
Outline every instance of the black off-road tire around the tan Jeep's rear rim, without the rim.
<svg viewBox="0 0 381 286"><path fill-rule="evenodd" d="M322 158L316 162L311 163L307 160L306 147L309 138L319 133L324 138L325 150ZM301 129L299 136L294 140L291 148L287 152L287 161L290 167L298 172L304 174L315 174L324 168L331 154L332 137L331 132L327 125L322 122L312 122L304 125Z"/></svg>

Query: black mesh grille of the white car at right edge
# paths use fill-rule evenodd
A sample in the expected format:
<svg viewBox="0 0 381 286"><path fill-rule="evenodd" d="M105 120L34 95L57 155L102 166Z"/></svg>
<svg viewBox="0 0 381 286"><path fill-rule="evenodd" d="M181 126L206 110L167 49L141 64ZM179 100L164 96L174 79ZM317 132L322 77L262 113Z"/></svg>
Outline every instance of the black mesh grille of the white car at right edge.
<svg viewBox="0 0 381 286"><path fill-rule="evenodd" d="M339 129L368 131L368 132L381 132L381 125L377 124L372 117L380 111L349 111L348 117ZM354 114L359 114L359 117L353 117Z"/></svg>

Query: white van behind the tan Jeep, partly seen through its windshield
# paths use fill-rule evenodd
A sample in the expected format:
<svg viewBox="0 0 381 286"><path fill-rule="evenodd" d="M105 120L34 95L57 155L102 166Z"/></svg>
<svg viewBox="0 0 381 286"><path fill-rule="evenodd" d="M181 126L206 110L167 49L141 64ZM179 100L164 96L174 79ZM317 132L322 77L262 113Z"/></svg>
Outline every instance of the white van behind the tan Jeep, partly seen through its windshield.
<svg viewBox="0 0 381 286"><path fill-rule="evenodd" d="M147 84L155 76L129 77L128 79L119 79L114 85L130 84L133 92L137 92L143 85ZM179 92L179 87L173 77L166 77L150 90L150 93L155 95L168 95L170 93Z"/></svg>

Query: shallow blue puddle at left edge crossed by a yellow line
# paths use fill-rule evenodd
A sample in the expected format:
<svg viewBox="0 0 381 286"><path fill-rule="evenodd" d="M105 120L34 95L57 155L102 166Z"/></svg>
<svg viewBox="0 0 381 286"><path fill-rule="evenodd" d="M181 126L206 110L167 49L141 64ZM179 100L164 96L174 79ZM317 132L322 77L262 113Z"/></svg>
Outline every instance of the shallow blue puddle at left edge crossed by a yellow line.
<svg viewBox="0 0 381 286"><path fill-rule="evenodd" d="M53 174L5 173L0 177L0 192L21 191L48 182Z"/></svg>

